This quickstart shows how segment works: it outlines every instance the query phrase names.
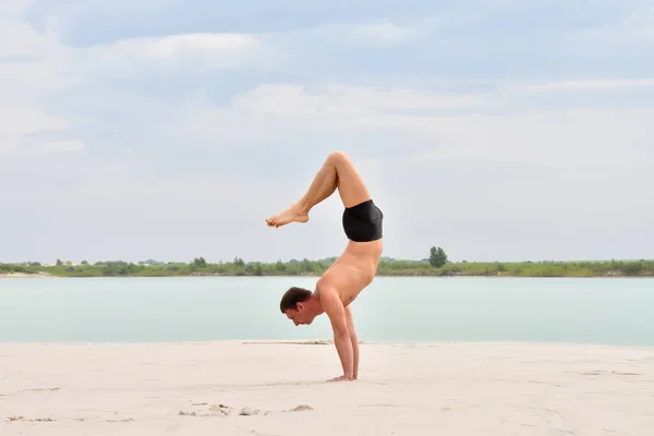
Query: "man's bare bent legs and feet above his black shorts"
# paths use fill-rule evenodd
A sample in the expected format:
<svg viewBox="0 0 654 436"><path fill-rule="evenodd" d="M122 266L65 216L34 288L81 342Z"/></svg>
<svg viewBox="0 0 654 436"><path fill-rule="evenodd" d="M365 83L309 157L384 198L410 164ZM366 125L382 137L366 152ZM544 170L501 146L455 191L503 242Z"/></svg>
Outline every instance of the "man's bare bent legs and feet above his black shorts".
<svg viewBox="0 0 654 436"><path fill-rule="evenodd" d="M346 207L352 207L367 199L371 194L350 158L342 152L331 153L314 178L308 191L288 209L266 219L270 227L289 222L308 221L308 211L338 189Z"/></svg>

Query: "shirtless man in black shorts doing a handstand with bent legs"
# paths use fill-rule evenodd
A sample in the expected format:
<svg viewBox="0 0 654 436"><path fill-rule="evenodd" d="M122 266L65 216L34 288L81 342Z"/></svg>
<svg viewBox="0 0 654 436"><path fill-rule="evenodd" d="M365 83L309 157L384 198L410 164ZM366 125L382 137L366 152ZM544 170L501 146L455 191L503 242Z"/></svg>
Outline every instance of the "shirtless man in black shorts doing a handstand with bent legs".
<svg viewBox="0 0 654 436"><path fill-rule="evenodd" d="M350 158L331 153L314 178L308 191L288 209L266 219L269 227L307 222L310 210L338 189L344 206L342 226L349 239L341 256L316 283L315 292L290 288L281 298L280 310L296 326L310 325L326 313L334 330L334 342L343 374L329 382L353 380L359 375L359 340L350 304L374 279L382 256L384 214Z"/></svg>

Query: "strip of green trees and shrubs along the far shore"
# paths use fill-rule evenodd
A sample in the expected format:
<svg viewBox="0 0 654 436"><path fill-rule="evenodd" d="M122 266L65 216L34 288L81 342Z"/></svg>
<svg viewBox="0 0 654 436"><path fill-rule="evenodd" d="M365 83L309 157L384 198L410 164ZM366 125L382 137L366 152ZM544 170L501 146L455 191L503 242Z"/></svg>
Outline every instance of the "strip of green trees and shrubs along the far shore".
<svg viewBox="0 0 654 436"><path fill-rule="evenodd" d="M0 264L0 274L46 274L56 277L174 277L174 276L319 276L336 257L310 261L291 259L275 263L231 262L209 263L204 257L184 262L131 263L106 261L74 265L57 259L53 265L36 262ZM445 250L432 246L423 259L383 257L377 276L512 276L512 277L625 277L654 276L654 261L605 262L450 262Z"/></svg>

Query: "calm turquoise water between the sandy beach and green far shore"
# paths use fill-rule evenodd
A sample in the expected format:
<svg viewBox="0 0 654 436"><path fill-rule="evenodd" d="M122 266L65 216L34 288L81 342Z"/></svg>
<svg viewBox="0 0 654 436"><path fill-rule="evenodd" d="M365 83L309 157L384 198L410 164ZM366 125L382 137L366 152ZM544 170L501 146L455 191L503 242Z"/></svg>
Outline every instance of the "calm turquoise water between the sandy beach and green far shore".
<svg viewBox="0 0 654 436"><path fill-rule="evenodd" d="M0 342L330 338L279 312L315 277L0 279ZM361 340L654 346L654 279L378 277L352 306Z"/></svg>

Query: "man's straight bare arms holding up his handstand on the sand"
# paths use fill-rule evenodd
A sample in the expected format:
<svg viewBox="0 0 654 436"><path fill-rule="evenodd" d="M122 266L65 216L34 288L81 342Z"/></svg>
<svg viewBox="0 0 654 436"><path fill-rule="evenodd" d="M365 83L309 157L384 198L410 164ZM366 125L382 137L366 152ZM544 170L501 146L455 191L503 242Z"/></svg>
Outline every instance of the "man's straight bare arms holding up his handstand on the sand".
<svg viewBox="0 0 654 436"><path fill-rule="evenodd" d="M320 304L331 323L334 343L336 344L336 350L343 367L343 376L354 379L354 353L352 351L352 341L350 340L343 303L334 288L326 287L320 288Z"/></svg>

